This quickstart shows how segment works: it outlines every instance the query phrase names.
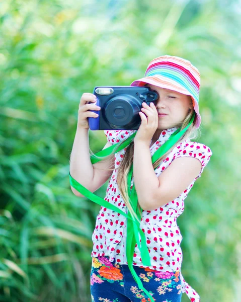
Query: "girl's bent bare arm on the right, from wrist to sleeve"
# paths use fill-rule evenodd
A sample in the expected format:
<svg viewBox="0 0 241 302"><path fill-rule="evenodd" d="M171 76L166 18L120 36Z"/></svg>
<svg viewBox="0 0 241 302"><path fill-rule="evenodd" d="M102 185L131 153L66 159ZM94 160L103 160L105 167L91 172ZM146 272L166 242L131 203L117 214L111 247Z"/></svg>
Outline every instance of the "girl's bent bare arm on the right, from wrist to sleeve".
<svg viewBox="0 0 241 302"><path fill-rule="evenodd" d="M134 145L133 176L138 202L143 210L153 210L177 198L199 175L201 162L192 157L175 159L156 177L149 145Z"/></svg>

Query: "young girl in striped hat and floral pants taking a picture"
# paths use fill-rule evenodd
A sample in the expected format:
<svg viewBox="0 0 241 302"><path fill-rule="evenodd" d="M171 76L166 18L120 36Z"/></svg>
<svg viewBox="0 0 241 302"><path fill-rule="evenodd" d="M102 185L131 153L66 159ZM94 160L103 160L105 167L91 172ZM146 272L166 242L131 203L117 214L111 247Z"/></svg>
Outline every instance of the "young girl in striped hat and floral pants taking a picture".
<svg viewBox="0 0 241 302"><path fill-rule="evenodd" d="M201 123L198 109L200 74L190 61L164 55L153 59L144 78L134 81L131 86L150 87L159 98L155 104L142 104L141 124L137 131L105 131L107 143L104 149L124 142L133 133L135 136L125 148L96 164L90 159L87 118L97 117L89 110L100 110L100 107L95 105L93 94L83 94L70 174L91 192L110 178L105 200L138 218L127 193L127 175L133 164L130 189L134 184L141 215L140 229L145 235L150 265L143 264L138 242L131 265L143 284L140 289L127 261L129 219L101 206L92 236L92 302L179 302L183 292L191 301L200 301L181 273L182 235L177 225L177 218L184 211L184 200L212 155L208 146L190 140ZM152 164L151 157L156 150L177 129L185 129L189 124L173 147ZM71 189L75 195L84 196L73 186Z"/></svg>

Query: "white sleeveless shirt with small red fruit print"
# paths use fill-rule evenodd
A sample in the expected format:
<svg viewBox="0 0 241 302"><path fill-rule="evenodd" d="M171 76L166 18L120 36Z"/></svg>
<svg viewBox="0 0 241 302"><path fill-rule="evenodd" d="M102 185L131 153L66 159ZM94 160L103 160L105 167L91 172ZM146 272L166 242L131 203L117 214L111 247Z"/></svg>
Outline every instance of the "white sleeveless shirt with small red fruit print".
<svg viewBox="0 0 241 302"><path fill-rule="evenodd" d="M163 130L160 133L158 140L150 147L151 156L161 146L177 128ZM105 130L108 141L112 144L128 138L136 130ZM115 168L110 177L105 200L114 204L122 211L127 213L127 207L122 199L117 185L118 167L124 157L126 148L115 154ZM178 196L162 207L151 211L142 211L142 219L140 228L145 234L146 244L150 254L151 266L150 269L160 271L177 271L181 272L181 264L183 259L182 249L180 247L182 235L177 225L177 218L184 211L184 200L189 191L194 185L194 182L201 176L204 167L210 160L212 152L210 148L202 143L193 142L187 139L177 144L172 152L159 164L155 169L155 174L158 177L171 163L179 157L194 157L197 158L202 168L199 175L193 182ZM131 181L131 188L134 179ZM92 257L107 255L110 261L116 259L119 264L127 264L125 244L126 244L126 224L127 218L123 215L101 206L100 212L96 219L96 226L93 232L93 251ZM140 251L136 244L133 265L143 266L140 257ZM190 300L199 301L199 295L187 284L180 274L182 280L182 290L186 292Z"/></svg>

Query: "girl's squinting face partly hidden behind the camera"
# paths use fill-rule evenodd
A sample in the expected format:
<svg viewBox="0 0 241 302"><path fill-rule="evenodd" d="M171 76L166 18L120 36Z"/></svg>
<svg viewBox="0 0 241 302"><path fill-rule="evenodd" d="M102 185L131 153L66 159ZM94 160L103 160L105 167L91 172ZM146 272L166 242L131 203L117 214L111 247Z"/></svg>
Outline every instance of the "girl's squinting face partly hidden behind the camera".
<svg viewBox="0 0 241 302"><path fill-rule="evenodd" d="M189 109L193 108L191 97L151 84L145 86L159 94L158 100L154 103L158 112L157 129L165 130L179 127L186 118Z"/></svg>

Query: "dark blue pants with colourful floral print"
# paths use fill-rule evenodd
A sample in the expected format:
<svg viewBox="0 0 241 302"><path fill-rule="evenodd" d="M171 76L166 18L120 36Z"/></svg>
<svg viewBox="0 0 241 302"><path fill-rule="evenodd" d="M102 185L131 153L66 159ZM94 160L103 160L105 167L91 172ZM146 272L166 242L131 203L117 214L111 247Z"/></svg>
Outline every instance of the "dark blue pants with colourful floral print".
<svg viewBox="0 0 241 302"><path fill-rule="evenodd" d="M161 272L133 266L146 290L156 302L181 302L180 272ZM127 264L109 261L108 256L92 258L92 302L148 302L150 299L139 289Z"/></svg>

